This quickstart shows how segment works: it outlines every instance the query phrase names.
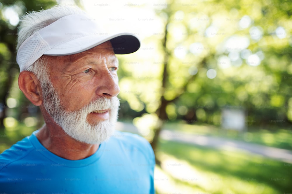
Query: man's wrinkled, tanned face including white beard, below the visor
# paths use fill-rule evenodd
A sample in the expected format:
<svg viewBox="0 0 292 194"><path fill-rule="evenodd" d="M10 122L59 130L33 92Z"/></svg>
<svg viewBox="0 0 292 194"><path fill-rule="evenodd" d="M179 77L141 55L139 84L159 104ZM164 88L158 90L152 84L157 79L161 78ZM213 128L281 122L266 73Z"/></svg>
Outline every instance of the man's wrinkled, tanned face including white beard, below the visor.
<svg viewBox="0 0 292 194"><path fill-rule="evenodd" d="M53 85L52 90L43 89L46 111L74 139L91 144L108 139L119 106L118 60L111 43L79 54L46 57Z"/></svg>

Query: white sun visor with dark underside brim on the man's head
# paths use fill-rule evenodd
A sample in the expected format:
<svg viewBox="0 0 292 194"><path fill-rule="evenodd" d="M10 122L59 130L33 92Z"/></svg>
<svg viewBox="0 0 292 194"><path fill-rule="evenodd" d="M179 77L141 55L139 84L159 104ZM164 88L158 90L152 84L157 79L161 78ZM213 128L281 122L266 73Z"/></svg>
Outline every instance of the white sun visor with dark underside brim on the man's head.
<svg viewBox="0 0 292 194"><path fill-rule="evenodd" d="M35 32L19 47L16 61L20 72L42 55L62 56L81 53L106 41L115 54L128 54L140 48L140 40L131 33L110 35L95 19L85 14L68 15Z"/></svg>

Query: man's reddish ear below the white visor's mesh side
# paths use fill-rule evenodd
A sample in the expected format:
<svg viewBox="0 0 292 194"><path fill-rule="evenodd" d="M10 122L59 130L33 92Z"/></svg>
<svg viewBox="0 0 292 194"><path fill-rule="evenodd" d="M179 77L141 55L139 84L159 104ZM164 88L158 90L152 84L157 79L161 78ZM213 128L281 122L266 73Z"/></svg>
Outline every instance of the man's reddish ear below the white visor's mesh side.
<svg viewBox="0 0 292 194"><path fill-rule="evenodd" d="M42 104L41 86L36 76L29 71L22 71L18 76L18 86L23 94L35 106Z"/></svg>

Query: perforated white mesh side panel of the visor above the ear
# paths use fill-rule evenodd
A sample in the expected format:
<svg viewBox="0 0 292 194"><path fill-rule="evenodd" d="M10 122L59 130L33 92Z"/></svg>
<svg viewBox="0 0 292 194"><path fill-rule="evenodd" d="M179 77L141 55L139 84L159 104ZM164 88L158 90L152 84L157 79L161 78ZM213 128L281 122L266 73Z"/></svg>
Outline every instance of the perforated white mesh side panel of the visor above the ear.
<svg viewBox="0 0 292 194"><path fill-rule="evenodd" d="M25 40L18 49L17 63L20 66L20 71L26 70L45 51L50 49L48 44L41 38L38 32L31 35Z"/></svg>

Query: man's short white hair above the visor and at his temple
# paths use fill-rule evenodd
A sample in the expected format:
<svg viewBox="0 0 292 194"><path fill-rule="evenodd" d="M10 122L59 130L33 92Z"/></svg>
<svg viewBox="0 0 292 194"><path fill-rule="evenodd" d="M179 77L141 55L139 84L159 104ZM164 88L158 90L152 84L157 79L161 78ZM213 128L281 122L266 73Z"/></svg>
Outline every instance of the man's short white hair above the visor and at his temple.
<svg viewBox="0 0 292 194"><path fill-rule="evenodd" d="M72 6L54 6L48 10L41 10L39 12L29 12L20 19L20 26L18 29L18 41L16 50L18 51L20 45L33 33L52 24L58 19L67 15L83 14L84 11ZM50 83L47 60L41 56L36 62L29 66L26 71L30 71L36 75L41 83L42 90L46 83Z"/></svg>

